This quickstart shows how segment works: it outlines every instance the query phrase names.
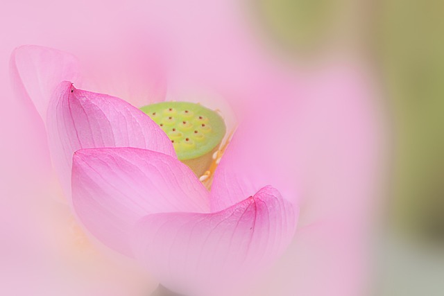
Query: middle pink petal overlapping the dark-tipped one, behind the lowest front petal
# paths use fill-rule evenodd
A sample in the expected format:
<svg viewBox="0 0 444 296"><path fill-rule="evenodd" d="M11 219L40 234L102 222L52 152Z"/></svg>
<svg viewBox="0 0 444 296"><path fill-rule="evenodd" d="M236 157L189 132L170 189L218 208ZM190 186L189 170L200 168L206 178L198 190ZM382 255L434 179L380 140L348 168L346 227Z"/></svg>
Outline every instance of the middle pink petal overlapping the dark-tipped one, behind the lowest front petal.
<svg viewBox="0 0 444 296"><path fill-rule="evenodd" d="M78 150L72 198L89 232L126 254L130 228L146 214L209 209L207 189L185 164L139 148Z"/></svg>

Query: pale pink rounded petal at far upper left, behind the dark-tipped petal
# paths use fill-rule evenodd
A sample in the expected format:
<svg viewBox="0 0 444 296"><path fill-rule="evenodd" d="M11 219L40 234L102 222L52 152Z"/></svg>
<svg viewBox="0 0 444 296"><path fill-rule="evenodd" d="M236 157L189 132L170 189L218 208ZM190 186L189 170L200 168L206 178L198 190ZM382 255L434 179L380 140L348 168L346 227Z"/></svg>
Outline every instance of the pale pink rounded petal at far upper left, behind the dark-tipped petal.
<svg viewBox="0 0 444 296"><path fill-rule="evenodd" d="M19 96L30 98L43 121L46 121L46 111L54 89L64 80L77 80L78 62L69 53L27 45L12 52L10 71Z"/></svg>

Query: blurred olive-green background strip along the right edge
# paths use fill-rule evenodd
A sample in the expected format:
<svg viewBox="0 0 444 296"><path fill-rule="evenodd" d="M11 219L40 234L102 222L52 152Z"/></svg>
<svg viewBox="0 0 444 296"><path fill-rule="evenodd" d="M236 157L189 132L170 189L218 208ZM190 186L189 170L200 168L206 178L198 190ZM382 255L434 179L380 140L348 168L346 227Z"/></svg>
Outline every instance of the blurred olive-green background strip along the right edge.
<svg viewBox="0 0 444 296"><path fill-rule="evenodd" d="M444 238L444 1L385 0L377 46L395 128L393 220Z"/></svg>

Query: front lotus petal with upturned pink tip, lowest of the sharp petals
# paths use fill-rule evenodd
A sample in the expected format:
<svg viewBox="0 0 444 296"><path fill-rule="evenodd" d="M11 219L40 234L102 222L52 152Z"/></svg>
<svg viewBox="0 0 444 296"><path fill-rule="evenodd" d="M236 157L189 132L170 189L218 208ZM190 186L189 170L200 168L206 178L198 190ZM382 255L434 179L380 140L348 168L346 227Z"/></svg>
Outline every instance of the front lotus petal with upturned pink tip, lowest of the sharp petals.
<svg viewBox="0 0 444 296"><path fill-rule="evenodd" d="M214 295L275 259L291 241L297 213L265 186L216 213L148 215L135 229L135 254L169 288Z"/></svg>

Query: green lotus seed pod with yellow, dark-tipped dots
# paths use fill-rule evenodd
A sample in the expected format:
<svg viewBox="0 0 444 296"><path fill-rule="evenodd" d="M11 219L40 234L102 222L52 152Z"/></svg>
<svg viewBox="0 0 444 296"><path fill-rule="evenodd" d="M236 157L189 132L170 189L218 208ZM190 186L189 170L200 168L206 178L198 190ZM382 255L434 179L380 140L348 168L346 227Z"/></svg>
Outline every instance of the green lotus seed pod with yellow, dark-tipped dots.
<svg viewBox="0 0 444 296"><path fill-rule="evenodd" d="M187 102L162 102L140 110L167 134L180 161L198 176L207 171L226 132L219 113Z"/></svg>

